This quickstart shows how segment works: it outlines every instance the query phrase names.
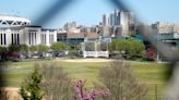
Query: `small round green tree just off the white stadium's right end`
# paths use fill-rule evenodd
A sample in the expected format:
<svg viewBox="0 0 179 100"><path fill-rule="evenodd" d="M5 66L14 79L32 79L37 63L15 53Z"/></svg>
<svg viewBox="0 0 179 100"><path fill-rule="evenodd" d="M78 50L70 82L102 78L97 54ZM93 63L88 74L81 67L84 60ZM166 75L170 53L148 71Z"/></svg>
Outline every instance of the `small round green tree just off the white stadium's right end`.
<svg viewBox="0 0 179 100"><path fill-rule="evenodd" d="M67 45L64 42L58 41L51 45L50 47L52 50L60 51L60 50L65 50Z"/></svg>

